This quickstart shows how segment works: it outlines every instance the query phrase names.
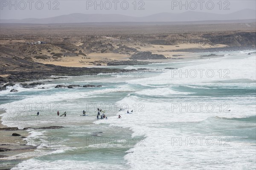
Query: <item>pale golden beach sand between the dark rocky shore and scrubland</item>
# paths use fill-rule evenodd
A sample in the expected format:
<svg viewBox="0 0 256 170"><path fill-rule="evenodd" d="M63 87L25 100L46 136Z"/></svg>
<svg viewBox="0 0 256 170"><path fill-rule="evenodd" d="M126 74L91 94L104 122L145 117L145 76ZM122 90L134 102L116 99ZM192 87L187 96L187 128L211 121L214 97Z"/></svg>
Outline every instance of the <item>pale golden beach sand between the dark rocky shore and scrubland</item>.
<svg viewBox="0 0 256 170"><path fill-rule="evenodd" d="M166 60L141 60L141 61L149 61L149 62L174 62L174 61L182 61L186 59L198 59L198 57L191 56L192 53L189 52L172 52L172 50L177 49L207 49L207 48L216 48L216 47L227 47L227 45L223 44L201 44L201 43L188 43L188 44L178 44L178 45L152 45L148 44L147 46L139 46L135 45L134 43L127 43L125 44L128 47L137 48L140 52L152 52L152 54L159 54L164 55ZM182 56L173 56L173 55L182 55ZM102 66L106 66L108 62L112 60L118 61L127 61L131 55L126 54L117 54L117 53L90 53L87 54L87 57L83 55L75 56L75 57L63 57L61 59L53 60L42 60L37 59L37 62L44 63L44 64L54 64L57 66L69 66L69 67L95 67L97 61L103 61L101 63ZM182 58L182 59L180 59ZM95 63L93 63L95 62Z"/></svg>

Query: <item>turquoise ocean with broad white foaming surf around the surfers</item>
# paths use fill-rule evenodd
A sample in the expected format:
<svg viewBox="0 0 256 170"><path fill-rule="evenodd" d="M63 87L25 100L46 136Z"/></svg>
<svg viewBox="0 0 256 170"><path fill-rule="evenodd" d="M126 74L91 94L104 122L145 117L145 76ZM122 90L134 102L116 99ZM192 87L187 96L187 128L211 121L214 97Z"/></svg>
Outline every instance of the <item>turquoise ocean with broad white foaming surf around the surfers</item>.
<svg viewBox="0 0 256 170"><path fill-rule="evenodd" d="M37 149L0 160L17 164L13 170L255 170L256 55L249 52L111 66L148 70L42 80L32 89L15 85L16 93L8 87L0 101L4 125L64 128L29 129L23 142ZM108 119L97 119L97 108Z"/></svg>

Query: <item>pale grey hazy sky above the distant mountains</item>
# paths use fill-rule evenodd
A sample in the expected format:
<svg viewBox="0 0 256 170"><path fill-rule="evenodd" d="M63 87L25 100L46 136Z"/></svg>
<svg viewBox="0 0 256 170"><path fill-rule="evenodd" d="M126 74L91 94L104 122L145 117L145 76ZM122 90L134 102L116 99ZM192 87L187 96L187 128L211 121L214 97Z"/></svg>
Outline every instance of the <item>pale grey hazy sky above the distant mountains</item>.
<svg viewBox="0 0 256 170"><path fill-rule="evenodd" d="M186 11L227 14L256 8L256 0L0 0L0 19L46 18L64 14L147 16Z"/></svg>

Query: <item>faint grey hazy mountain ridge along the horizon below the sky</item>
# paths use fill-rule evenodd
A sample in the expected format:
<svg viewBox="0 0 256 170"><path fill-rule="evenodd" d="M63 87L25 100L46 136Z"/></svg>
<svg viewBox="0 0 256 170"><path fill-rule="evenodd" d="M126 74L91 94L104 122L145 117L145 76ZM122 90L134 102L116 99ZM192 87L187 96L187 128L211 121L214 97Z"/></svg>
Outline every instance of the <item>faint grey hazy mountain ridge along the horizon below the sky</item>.
<svg viewBox="0 0 256 170"><path fill-rule="evenodd" d="M0 20L0 23L101 23L101 22L180 22L203 20L245 20L256 19L256 10L243 9L230 14L187 11L180 14L158 13L146 17L132 17L122 14L67 14L48 18L26 18L22 20Z"/></svg>

